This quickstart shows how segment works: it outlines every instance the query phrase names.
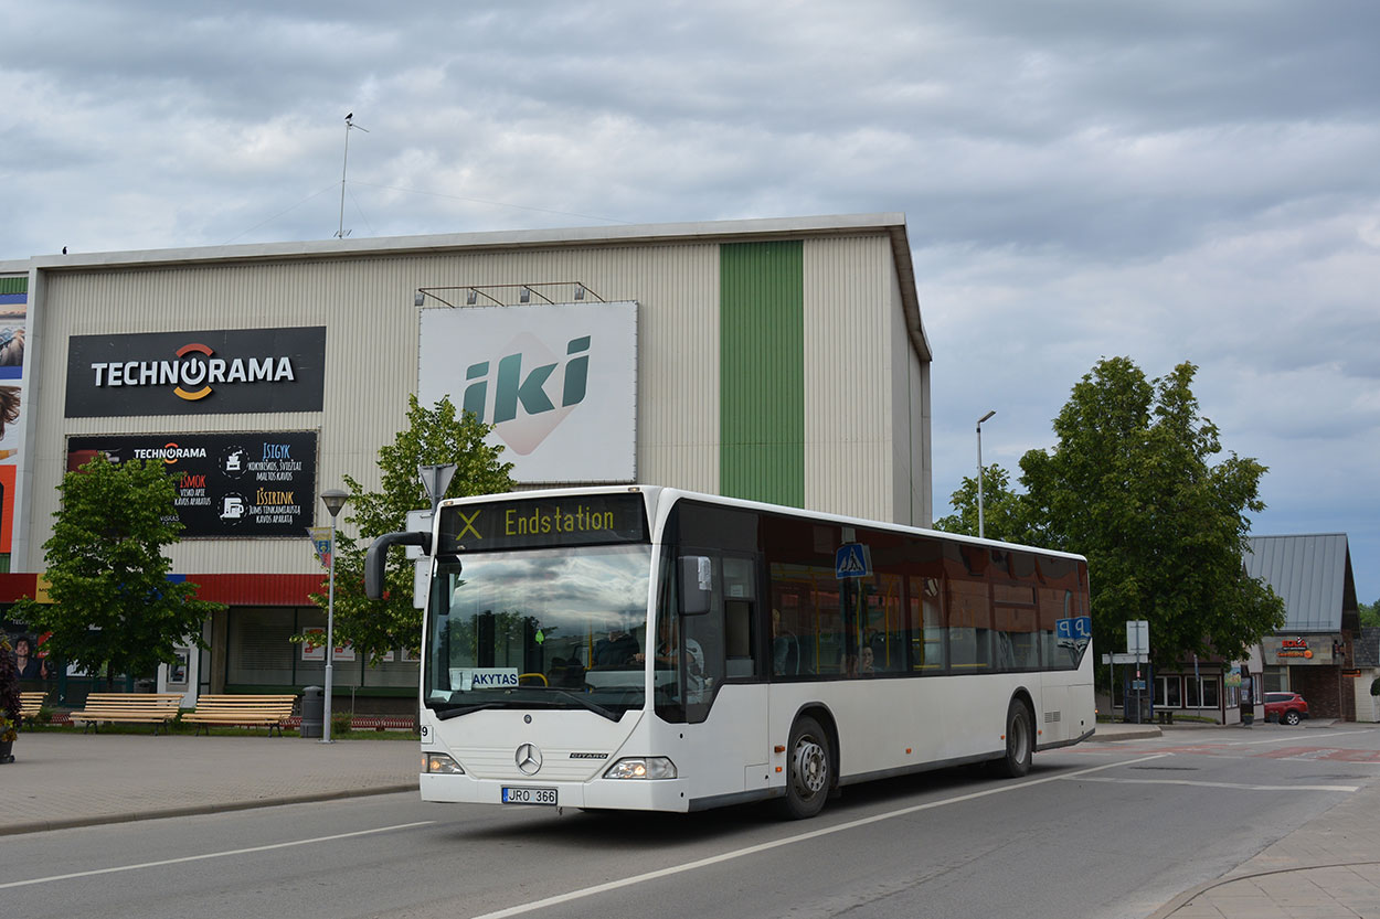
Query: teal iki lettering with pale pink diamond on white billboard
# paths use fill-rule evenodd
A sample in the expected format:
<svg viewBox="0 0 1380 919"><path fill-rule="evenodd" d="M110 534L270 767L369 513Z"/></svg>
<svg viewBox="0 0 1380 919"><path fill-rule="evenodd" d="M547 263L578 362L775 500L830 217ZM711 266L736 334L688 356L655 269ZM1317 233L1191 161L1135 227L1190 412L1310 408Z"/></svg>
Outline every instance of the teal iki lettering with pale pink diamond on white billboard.
<svg viewBox="0 0 1380 919"><path fill-rule="evenodd" d="M585 400L589 338L571 338L559 357L535 335L518 335L505 348L512 353L465 370L462 408L494 425L504 443L526 457Z"/></svg>

